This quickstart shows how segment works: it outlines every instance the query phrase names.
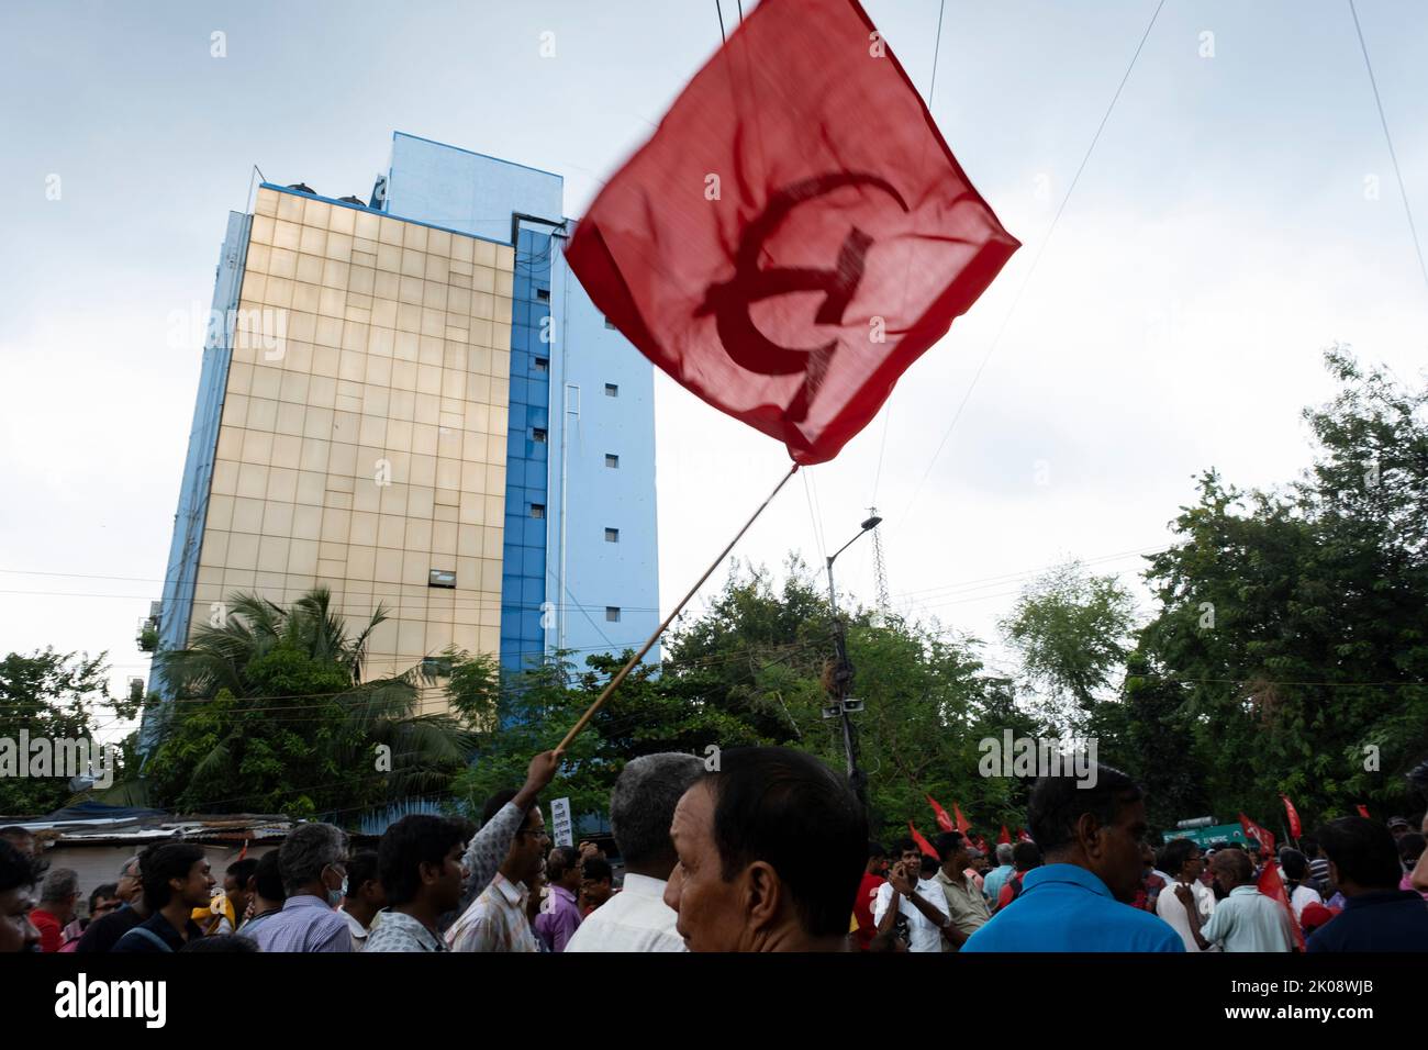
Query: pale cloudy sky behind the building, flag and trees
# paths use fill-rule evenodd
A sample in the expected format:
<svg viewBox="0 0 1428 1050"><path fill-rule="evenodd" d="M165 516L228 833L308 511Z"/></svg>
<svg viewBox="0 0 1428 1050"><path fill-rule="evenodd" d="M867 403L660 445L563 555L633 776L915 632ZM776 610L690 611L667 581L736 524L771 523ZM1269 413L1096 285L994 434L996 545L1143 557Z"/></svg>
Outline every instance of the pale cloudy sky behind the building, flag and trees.
<svg viewBox="0 0 1428 1050"><path fill-rule="evenodd" d="M1428 284L1347 0L1165 3L1048 240L1157 3L947 0L932 114L1025 247L744 557L821 564L877 503L892 604L994 641L1067 557L1132 583L1198 471L1302 469L1328 343L1422 374ZM867 7L925 91L938 0ZM1428 7L1358 13L1428 234ZM0 651L109 650L116 691L147 674L134 627L198 379L201 330L170 314L207 309L253 166L366 196L403 130L563 173L578 217L718 46L714 0L11 0L6 20ZM668 607L788 460L663 376L657 427ZM867 540L838 576L873 594Z"/></svg>

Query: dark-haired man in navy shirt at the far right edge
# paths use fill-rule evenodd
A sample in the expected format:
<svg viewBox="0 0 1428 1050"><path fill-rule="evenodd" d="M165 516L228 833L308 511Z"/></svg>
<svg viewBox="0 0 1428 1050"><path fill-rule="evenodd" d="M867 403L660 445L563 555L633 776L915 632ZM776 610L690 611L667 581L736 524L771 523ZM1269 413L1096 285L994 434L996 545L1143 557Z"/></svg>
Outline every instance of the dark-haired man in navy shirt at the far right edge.
<svg viewBox="0 0 1428 1050"><path fill-rule="evenodd" d="M1339 817L1314 833L1329 859L1344 911L1321 926L1309 951L1428 951L1428 906L1399 890L1394 836L1364 817Z"/></svg>

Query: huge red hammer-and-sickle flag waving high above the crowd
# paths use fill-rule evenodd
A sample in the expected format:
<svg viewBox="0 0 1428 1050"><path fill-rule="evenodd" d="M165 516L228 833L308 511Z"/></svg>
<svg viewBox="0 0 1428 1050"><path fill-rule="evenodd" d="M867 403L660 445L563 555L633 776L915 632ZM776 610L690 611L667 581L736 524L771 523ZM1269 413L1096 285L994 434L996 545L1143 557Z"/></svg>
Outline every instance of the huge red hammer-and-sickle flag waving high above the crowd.
<svg viewBox="0 0 1428 1050"><path fill-rule="evenodd" d="M857 0L764 0L565 259L645 357L810 464L1018 247Z"/></svg>

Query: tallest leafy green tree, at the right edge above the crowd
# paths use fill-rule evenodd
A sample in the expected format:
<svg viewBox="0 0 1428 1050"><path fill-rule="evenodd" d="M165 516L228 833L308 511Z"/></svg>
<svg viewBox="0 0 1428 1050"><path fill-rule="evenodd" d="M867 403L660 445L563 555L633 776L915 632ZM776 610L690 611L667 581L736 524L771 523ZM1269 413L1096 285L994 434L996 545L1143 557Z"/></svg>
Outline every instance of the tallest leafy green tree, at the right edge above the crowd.
<svg viewBox="0 0 1428 1050"><path fill-rule="evenodd" d="M1281 491L1207 471L1147 571L1140 644L1187 694L1221 816L1271 820L1279 791L1311 824L1412 806L1401 774L1428 749L1428 390L1325 360L1341 390L1305 413L1314 466Z"/></svg>

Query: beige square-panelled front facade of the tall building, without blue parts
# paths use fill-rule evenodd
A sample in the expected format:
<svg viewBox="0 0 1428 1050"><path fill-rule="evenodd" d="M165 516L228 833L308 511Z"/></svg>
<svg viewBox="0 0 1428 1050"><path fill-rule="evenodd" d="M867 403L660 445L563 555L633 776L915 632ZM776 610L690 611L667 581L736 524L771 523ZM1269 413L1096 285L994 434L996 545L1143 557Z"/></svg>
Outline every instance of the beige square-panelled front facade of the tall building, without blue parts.
<svg viewBox="0 0 1428 1050"><path fill-rule="evenodd" d="M510 246L258 190L190 627L326 584L391 610L368 677L500 654L511 289Z"/></svg>

